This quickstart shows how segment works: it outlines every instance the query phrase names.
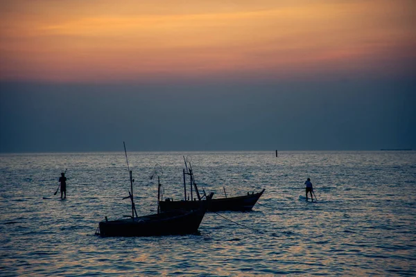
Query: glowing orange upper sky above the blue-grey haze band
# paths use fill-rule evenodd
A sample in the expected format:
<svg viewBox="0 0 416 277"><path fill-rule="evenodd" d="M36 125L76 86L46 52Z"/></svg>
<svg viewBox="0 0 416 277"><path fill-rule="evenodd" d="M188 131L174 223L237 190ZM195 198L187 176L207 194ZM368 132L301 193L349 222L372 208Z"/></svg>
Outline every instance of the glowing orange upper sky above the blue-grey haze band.
<svg viewBox="0 0 416 277"><path fill-rule="evenodd" d="M0 80L409 75L415 1L1 1Z"/></svg>

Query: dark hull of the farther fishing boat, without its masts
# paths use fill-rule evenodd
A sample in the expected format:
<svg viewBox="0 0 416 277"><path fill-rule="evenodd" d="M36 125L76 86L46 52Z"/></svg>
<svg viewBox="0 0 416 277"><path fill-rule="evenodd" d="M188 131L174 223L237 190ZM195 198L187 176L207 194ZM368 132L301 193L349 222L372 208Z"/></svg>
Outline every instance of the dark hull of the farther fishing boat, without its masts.
<svg viewBox="0 0 416 277"><path fill-rule="evenodd" d="M253 206L257 203L257 200L263 195L264 190L260 193L252 193L248 195L228 198L211 199L206 203L207 211L252 211ZM202 203L206 200L202 200ZM160 203L161 211L174 211L174 210L186 210L190 211L200 205L200 201L172 201L167 199Z"/></svg>

